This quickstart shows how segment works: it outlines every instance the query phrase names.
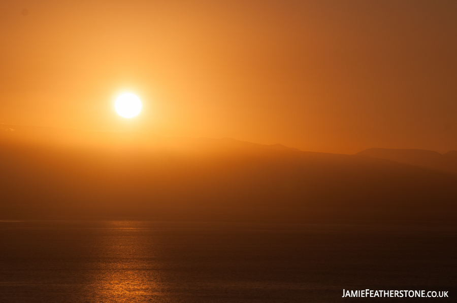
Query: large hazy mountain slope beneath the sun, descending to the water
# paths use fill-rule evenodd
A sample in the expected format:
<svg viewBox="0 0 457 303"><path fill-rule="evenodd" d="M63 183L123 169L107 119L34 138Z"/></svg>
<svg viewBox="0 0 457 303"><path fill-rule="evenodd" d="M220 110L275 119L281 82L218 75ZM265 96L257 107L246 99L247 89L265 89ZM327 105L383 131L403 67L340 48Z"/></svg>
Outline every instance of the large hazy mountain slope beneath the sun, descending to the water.
<svg viewBox="0 0 457 303"><path fill-rule="evenodd" d="M2 126L0 169L1 218L309 222L457 215L455 174L229 138Z"/></svg>

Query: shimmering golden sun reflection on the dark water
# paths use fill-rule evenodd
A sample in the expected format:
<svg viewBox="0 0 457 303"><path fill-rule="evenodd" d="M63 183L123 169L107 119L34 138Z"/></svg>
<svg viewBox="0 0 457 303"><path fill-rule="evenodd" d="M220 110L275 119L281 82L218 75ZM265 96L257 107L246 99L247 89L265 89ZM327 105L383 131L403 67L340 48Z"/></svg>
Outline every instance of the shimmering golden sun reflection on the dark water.
<svg viewBox="0 0 457 303"><path fill-rule="evenodd" d="M154 301L162 297L151 234L141 222L111 221L100 230L92 280L97 302Z"/></svg>

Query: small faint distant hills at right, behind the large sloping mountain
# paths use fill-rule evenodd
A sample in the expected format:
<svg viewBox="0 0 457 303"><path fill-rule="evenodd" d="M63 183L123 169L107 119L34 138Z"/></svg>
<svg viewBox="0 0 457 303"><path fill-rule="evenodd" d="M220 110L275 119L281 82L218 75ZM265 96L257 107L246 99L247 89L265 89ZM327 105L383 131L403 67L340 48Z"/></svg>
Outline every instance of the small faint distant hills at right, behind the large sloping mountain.
<svg viewBox="0 0 457 303"><path fill-rule="evenodd" d="M457 150L441 155L438 152L423 149L369 148L356 155L457 173Z"/></svg>

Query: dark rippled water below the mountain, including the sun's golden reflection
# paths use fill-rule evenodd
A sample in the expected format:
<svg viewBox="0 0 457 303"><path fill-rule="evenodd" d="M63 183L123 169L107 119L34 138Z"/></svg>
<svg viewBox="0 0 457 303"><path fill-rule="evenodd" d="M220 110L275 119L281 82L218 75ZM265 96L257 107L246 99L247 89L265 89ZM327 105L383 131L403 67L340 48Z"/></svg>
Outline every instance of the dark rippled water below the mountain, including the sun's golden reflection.
<svg viewBox="0 0 457 303"><path fill-rule="evenodd" d="M336 302L345 289L447 290L457 228L0 221L1 302Z"/></svg>

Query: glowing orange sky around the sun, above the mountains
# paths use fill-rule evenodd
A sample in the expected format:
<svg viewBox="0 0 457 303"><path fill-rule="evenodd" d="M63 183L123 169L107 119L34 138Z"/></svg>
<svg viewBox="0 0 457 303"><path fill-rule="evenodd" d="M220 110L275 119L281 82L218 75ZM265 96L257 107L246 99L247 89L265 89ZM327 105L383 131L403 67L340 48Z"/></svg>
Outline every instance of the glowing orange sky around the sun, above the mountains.
<svg viewBox="0 0 457 303"><path fill-rule="evenodd" d="M444 153L455 16L455 1L2 0L0 124ZM125 90L143 100L132 120L113 107Z"/></svg>

